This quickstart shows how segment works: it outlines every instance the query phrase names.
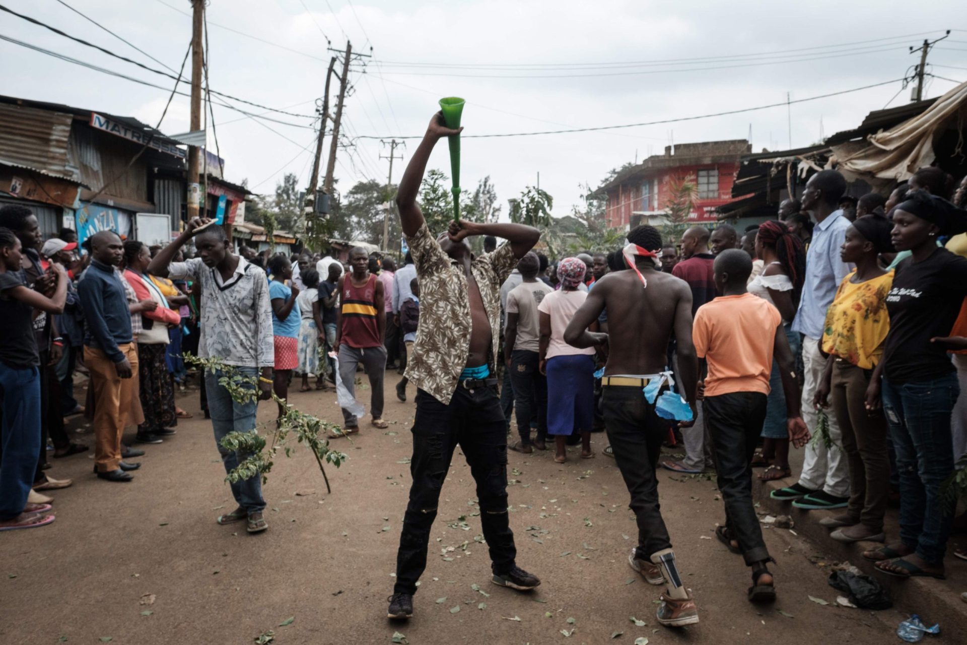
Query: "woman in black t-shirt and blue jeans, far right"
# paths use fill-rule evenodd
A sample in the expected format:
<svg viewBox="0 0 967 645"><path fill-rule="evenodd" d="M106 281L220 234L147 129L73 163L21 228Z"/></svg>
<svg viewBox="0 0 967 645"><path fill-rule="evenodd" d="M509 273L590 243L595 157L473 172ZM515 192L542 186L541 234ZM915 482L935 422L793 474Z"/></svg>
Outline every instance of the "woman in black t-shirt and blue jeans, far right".
<svg viewBox="0 0 967 645"><path fill-rule="evenodd" d="M950 336L967 296L967 259L937 247L937 236L967 230L967 212L914 191L892 217L895 249L912 254L896 267L887 295L890 333L866 391L866 408L879 408L882 388L900 478L900 536L863 555L897 577L943 578L952 513L940 489L953 472L951 411L960 389L938 340Z"/></svg>

